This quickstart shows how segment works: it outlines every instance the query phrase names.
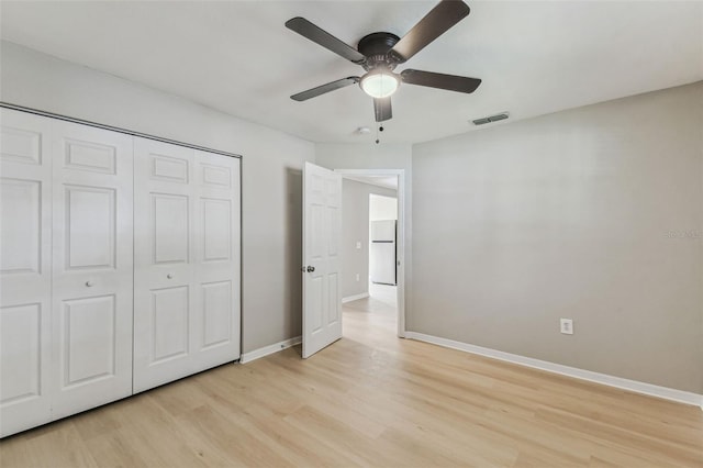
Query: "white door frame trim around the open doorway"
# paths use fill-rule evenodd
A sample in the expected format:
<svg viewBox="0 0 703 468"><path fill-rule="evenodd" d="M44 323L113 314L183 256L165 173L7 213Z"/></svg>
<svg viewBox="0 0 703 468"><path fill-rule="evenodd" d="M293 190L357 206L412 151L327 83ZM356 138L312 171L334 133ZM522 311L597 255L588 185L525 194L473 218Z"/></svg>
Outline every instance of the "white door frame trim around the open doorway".
<svg viewBox="0 0 703 468"><path fill-rule="evenodd" d="M355 177L397 176L398 177L398 337L405 337L405 169L334 169L343 179L357 180ZM342 260L344 261L344 260Z"/></svg>

